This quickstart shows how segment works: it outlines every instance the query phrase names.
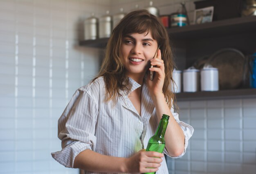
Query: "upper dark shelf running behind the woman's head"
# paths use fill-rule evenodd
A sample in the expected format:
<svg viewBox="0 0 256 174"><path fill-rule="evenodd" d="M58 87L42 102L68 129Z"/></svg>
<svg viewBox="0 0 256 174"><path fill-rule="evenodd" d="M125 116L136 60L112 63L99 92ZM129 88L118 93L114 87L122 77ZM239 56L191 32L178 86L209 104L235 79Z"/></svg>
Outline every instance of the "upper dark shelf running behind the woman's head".
<svg viewBox="0 0 256 174"><path fill-rule="evenodd" d="M231 18L199 25L189 25L166 29L174 40L191 40L215 36L232 35L236 33L251 33L256 31L256 16ZM86 47L105 48L109 38L97 40L82 40L80 45Z"/></svg>

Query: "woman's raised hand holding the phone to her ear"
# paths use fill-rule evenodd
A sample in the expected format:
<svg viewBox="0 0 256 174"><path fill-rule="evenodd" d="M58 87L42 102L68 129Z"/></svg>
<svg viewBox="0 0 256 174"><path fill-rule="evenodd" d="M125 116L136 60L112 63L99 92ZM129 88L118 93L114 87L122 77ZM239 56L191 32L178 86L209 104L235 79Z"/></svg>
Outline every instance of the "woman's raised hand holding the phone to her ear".
<svg viewBox="0 0 256 174"><path fill-rule="evenodd" d="M150 65L155 67L149 68L150 71L154 71L153 80L150 80L150 75L147 77L147 86L151 95L162 94L164 85L164 60L161 57L161 50L157 50L157 57L150 59Z"/></svg>

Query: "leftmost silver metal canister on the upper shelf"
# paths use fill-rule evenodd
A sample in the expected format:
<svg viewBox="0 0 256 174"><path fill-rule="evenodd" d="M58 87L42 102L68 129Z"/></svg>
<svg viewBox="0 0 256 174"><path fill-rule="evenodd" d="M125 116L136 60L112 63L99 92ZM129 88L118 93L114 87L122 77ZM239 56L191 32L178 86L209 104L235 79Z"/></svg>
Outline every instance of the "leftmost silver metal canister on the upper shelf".
<svg viewBox="0 0 256 174"><path fill-rule="evenodd" d="M84 29L85 40L95 40L98 38L98 18L94 16L94 13L92 13L90 18L85 19Z"/></svg>

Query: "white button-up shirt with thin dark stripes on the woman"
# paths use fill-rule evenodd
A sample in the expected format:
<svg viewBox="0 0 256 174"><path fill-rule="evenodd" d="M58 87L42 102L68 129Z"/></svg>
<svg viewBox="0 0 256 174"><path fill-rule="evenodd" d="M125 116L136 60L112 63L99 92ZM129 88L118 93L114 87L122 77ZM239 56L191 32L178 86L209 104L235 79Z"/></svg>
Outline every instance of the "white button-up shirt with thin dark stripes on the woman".
<svg viewBox="0 0 256 174"><path fill-rule="evenodd" d="M140 87L129 78L131 90ZM125 92L123 98L106 103L106 88L103 77L94 83L76 90L72 99L58 120L58 138L62 141L62 150L52 153L52 157L65 167L73 167L74 158L85 149L100 154L117 157L131 157L145 149L148 140L155 134L158 119L153 101L146 84L141 91L141 115L138 114ZM179 120L178 114L171 112L185 136L185 149L193 134L193 127ZM164 150L164 154L168 154ZM179 156L180 157L180 156ZM168 174L166 161L158 174ZM99 174L85 171L85 174Z"/></svg>

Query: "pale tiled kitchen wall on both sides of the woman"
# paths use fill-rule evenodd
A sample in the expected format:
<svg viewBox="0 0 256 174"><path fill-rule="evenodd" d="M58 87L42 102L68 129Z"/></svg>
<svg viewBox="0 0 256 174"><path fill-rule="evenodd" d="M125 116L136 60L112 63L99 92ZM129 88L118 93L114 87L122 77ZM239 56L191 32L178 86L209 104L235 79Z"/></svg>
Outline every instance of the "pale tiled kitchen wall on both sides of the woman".
<svg viewBox="0 0 256 174"><path fill-rule="evenodd" d="M170 14L180 2L153 0L153 6ZM194 1L184 2L193 22ZM101 65L103 49L79 46L83 21L92 12L99 17L123 7L127 13L135 4L142 9L149 0L0 0L1 174L79 172L50 152L61 149L57 120L67 102ZM170 173L256 174L256 98L178 106L180 120L195 132L182 158L168 158Z"/></svg>

